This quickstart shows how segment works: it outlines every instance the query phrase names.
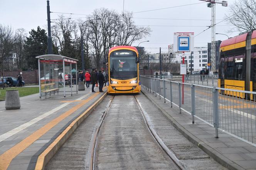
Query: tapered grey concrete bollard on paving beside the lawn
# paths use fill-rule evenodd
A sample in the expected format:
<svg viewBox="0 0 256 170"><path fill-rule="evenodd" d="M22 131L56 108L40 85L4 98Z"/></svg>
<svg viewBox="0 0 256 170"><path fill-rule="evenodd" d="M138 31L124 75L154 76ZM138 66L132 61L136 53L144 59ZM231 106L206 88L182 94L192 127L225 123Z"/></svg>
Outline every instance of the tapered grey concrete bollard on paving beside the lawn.
<svg viewBox="0 0 256 170"><path fill-rule="evenodd" d="M5 96L5 109L19 109L20 108L20 97L18 90L7 90Z"/></svg>

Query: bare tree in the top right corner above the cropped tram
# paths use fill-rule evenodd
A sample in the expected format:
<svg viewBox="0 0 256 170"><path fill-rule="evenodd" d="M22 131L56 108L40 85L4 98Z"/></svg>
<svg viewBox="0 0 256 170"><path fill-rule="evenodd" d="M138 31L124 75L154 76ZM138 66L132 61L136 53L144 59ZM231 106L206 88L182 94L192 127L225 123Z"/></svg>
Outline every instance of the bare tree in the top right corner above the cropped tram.
<svg viewBox="0 0 256 170"><path fill-rule="evenodd" d="M229 17L232 16L232 17ZM237 0L229 7L225 15L227 22L234 27L230 30L244 32L256 29L256 0Z"/></svg>

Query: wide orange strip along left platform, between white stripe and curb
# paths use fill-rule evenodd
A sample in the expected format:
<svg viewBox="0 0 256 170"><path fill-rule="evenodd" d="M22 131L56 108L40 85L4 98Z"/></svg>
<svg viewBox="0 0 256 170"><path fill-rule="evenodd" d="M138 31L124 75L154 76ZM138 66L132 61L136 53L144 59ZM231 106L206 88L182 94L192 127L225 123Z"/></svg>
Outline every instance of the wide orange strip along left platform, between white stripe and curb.
<svg viewBox="0 0 256 170"><path fill-rule="evenodd" d="M78 108L83 106L84 104L88 103L90 100L95 98L99 93L95 93L91 95L89 98L84 100L83 102L77 104L76 106L72 107L67 112L63 113L59 117L55 118L51 122L47 123L43 127L41 127L39 130L35 131L28 137L26 137L24 140L22 140L20 143L17 143L15 146L7 150L5 153L0 155L0 170L5 170L10 165L10 162L13 158L15 158L19 153L21 153L23 150L25 150L27 147L29 147L32 143L34 143L37 139L39 139L42 135L44 135L46 132L48 132L51 128L53 128L55 125L57 125L59 122L61 122L64 118L68 117L72 113L74 113Z"/></svg>

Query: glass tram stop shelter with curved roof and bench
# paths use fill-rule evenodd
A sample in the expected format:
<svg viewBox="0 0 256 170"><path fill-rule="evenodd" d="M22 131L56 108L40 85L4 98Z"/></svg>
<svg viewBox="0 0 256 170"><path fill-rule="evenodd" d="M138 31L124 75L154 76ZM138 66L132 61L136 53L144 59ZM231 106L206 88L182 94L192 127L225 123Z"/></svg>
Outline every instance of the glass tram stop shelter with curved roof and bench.
<svg viewBox="0 0 256 170"><path fill-rule="evenodd" d="M47 96L66 98L67 95L72 96L73 92L77 94L78 60L54 54L40 55L35 58L38 58L40 98ZM73 85L75 90L72 89Z"/></svg>

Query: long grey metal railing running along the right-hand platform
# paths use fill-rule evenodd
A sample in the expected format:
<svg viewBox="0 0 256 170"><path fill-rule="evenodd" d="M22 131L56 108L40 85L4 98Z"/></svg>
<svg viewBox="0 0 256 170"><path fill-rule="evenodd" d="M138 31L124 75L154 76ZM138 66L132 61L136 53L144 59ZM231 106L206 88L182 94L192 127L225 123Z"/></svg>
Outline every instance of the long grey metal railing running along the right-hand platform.
<svg viewBox="0 0 256 170"><path fill-rule="evenodd" d="M256 92L140 76L141 86L163 102L218 130L256 146Z"/></svg>

